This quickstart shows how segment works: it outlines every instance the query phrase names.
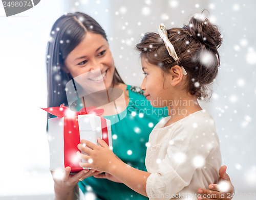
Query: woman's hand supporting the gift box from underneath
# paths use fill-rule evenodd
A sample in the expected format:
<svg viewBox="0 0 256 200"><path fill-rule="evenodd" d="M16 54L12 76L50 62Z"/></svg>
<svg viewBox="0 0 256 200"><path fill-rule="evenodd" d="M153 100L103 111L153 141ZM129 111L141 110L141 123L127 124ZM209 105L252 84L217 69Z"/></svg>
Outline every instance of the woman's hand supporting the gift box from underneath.
<svg viewBox="0 0 256 200"><path fill-rule="evenodd" d="M83 179L99 174L94 169L83 169L78 173L70 174L71 168L66 167L62 174L57 171L51 171L54 180L55 200L73 200L75 199L74 187Z"/></svg>

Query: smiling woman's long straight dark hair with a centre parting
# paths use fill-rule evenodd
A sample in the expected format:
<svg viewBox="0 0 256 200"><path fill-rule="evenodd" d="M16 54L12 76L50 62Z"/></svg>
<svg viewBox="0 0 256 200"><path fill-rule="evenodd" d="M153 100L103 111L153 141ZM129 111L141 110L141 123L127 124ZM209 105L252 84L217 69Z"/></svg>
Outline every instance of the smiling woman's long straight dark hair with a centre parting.
<svg viewBox="0 0 256 200"><path fill-rule="evenodd" d="M84 13L75 12L62 15L53 24L46 58L48 107L60 106L60 104L68 106L65 86L72 77L70 73L63 70L64 61L87 32L100 34L106 39L105 31L99 23ZM124 82L115 68L113 84L116 83ZM48 118L50 116L48 114Z"/></svg>

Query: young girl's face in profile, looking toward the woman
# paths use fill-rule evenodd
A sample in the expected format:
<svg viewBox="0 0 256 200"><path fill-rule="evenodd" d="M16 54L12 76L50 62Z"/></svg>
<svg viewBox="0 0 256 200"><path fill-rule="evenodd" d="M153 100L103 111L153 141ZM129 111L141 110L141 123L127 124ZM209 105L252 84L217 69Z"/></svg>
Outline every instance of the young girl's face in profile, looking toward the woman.
<svg viewBox="0 0 256 200"><path fill-rule="evenodd" d="M144 91L146 99L150 101L153 107L165 107L170 101L171 85L170 74L166 73L165 77L160 67L147 63L141 58L142 70L145 74L140 88Z"/></svg>

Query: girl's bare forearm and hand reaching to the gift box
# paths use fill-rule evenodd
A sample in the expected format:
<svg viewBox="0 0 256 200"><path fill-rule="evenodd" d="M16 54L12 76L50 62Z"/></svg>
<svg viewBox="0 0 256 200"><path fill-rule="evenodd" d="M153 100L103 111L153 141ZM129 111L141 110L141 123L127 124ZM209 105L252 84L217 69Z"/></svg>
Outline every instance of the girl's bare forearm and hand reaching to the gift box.
<svg viewBox="0 0 256 200"><path fill-rule="evenodd" d="M88 161L88 163L79 163L81 167L89 167L98 171L108 172L134 191L147 196L146 180L151 173L135 169L122 162L110 150L108 144L100 138L98 138L100 146L87 140L81 140L81 143L78 144L78 148L88 154L84 155L77 152L80 159Z"/></svg>

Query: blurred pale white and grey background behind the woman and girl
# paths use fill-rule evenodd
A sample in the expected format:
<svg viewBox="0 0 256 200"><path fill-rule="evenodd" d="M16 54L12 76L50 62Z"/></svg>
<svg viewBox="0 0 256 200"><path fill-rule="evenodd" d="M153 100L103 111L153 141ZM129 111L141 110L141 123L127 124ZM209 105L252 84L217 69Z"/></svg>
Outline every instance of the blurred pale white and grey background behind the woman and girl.
<svg viewBox="0 0 256 200"><path fill-rule="evenodd" d="M46 136L46 45L54 21L66 12L95 18L106 31L126 84L143 74L134 50L144 32L181 27L207 9L221 28L221 65L211 101L222 163L236 189L233 199L256 199L256 2L251 0L42 0L6 17L0 3L0 199L53 199ZM254 24L254 25L253 25Z"/></svg>

